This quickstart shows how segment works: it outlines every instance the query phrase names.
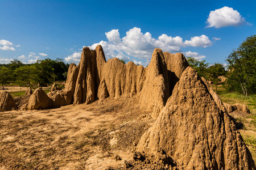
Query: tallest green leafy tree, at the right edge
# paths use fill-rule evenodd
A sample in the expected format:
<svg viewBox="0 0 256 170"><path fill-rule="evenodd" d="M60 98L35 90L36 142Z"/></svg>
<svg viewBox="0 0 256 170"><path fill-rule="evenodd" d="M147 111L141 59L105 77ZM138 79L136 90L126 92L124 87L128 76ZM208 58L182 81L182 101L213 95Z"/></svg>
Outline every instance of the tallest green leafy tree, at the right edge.
<svg viewBox="0 0 256 170"><path fill-rule="evenodd" d="M247 39L227 57L229 63L227 87L243 95L256 92L256 35Z"/></svg>

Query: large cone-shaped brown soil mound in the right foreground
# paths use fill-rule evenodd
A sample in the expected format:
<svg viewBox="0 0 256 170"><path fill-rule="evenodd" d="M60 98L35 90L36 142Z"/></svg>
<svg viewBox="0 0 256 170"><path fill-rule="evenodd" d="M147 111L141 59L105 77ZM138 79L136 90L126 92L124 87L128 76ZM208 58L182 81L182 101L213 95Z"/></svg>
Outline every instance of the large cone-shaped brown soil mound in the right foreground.
<svg viewBox="0 0 256 170"><path fill-rule="evenodd" d="M221 111L191 67L138 144L138 151L151 155L159 149L178 169L255 169L230 116Z"/></svg>

